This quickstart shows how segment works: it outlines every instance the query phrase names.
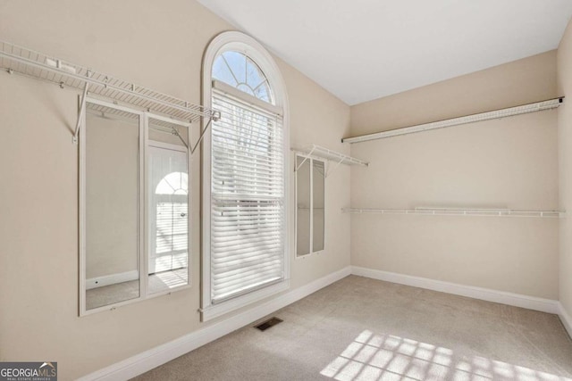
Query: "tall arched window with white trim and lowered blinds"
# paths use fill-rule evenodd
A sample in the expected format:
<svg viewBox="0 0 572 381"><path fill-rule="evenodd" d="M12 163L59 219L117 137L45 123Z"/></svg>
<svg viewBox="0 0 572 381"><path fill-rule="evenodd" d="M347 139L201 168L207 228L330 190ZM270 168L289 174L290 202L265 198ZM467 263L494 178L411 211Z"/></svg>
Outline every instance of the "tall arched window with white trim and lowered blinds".
<svg viewBox="0 0 572 381"><path fill-rule="evenodd" d="M204 103L221 118L203 151L203 319L288 285L288 107L282 75L256 40L207 47Z"/></svg>

